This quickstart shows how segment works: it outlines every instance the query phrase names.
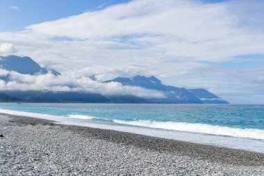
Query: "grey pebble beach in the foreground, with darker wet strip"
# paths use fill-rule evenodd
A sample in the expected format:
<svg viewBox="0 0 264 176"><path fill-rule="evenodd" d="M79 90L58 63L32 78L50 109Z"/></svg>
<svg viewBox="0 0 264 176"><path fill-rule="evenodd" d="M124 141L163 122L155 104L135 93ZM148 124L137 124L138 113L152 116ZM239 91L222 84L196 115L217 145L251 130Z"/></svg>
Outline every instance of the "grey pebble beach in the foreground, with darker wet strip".
<svg viewBox="0 0 264 176"><path fill-rule="evenodd" d="M0 175L264 175L264 154L1 114Z"/></svg>

